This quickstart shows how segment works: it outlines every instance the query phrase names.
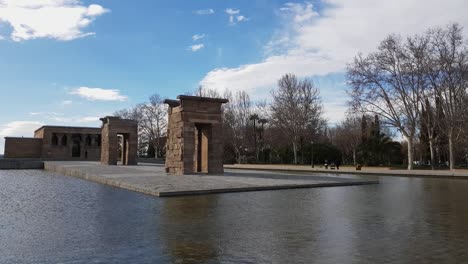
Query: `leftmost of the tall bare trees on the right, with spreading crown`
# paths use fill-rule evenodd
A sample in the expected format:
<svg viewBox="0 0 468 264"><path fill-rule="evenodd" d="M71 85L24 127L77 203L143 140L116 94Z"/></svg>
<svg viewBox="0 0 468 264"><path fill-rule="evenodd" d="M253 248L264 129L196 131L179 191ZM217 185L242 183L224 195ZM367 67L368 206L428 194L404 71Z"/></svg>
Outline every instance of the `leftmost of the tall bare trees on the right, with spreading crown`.
<svg viewBox="0 0 468 264"><path fill-rule="evenodd" d="M378 50L367 57L358 55L348 65L351 105L383 118L396 127L408 141L408 169L413 169L414 140L423 100L424 38L415 37L403 43L391 35Z"/></svg>

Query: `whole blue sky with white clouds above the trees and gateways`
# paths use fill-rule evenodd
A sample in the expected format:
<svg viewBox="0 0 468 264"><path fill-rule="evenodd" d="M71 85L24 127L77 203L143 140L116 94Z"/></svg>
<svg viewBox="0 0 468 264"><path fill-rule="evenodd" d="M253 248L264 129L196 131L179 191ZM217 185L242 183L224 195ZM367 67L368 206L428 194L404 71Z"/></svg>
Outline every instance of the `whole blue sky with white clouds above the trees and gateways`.
<svg viewBox="0 0 468 264"><path fill-rule="evenodd" d="M199 85L270 100L286 73L347 109L346 64L389 34L459 23L465 0L0 0L0 153L5 136L99 118Z"/></svg>

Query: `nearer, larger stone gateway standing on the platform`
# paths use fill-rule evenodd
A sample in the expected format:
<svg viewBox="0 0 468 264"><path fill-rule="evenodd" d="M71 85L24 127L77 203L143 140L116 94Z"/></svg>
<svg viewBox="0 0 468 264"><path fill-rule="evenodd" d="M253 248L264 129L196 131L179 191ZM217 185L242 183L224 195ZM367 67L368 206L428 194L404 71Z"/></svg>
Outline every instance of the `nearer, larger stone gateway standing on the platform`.
<svg viewBox="0 0 468 264"><path fill-rule="evenodd" d="M169 105L166 171L173 174L222 173L221 105L227 99L179 95Z"/></svg>

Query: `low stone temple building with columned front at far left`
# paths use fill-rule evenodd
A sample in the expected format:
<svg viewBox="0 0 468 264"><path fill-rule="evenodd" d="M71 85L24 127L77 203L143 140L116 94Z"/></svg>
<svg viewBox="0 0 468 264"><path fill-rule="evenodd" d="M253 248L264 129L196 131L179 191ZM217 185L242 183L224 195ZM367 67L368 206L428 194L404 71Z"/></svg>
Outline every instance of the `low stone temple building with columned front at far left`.
<svg viewBox="0 0 468 264"><path fill-rule="evenodd" d="M5 137L5 158L92 160L101 158L101 128L43 126L34 138Z"/></svg>

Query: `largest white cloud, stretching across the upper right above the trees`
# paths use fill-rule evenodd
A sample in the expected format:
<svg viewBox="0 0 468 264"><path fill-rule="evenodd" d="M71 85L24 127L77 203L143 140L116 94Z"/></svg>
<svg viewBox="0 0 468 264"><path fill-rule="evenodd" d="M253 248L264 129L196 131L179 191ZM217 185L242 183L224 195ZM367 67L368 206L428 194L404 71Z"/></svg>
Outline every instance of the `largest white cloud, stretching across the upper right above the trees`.
<svg viewBox="0 0 468 264"><path fill-rule="evenodd" d="M200 84L220 91L246 90L254 97L265 98L283 74L311 77L343 72L357 53L376 49L378 43L391 33L405 36L458 22L465 26L465 36L468 36L468 2L464 0L444 1L443 12L439 0L325 2L320 12L309 2L285 4L278 11L280 19L284 20L282 28L265 44L264 50L259 51L266 53L262 61L214 69ZM234 18L232 20L235 22ZM326 94L324 89L338 89L319 88L322 94ZM337 98L323 96L323 99L325 111L337 116ZM342 97L338 99L343 101ZM339 117L342 117L344 111L340 112Z"/></svg>

